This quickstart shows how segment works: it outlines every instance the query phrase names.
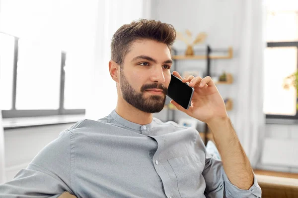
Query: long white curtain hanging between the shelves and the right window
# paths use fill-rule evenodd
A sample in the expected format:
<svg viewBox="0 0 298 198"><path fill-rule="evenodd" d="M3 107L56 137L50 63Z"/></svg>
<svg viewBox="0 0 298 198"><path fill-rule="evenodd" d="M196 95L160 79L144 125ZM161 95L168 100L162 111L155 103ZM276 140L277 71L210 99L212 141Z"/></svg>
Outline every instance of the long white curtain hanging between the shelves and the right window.
<svg viewBox="0 0 298 198"><path fill-rule="evenodd" d="M263 0L234 0L237 106L234 127L253 168L265 134L263 62L265 6Z"/></svg>

